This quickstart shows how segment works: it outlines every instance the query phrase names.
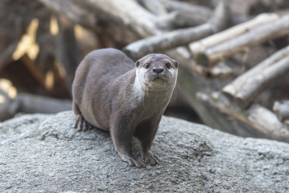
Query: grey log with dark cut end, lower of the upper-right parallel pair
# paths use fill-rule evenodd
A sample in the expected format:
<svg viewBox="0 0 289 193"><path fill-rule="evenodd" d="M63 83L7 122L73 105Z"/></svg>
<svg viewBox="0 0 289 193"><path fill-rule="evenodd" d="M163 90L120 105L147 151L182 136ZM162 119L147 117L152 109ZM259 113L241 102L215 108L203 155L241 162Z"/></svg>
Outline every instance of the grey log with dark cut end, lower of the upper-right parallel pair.
<svg viewBox="0 0 289 193"><path fill-rule="evenodd" d="M256 35L258 34L258 35ZM289 15L250 30L240 36L219 43L198 55L197 62L201 65L212 66L235 52L244 51L248 47L264 43L268 40L289 34Z"/></svg>

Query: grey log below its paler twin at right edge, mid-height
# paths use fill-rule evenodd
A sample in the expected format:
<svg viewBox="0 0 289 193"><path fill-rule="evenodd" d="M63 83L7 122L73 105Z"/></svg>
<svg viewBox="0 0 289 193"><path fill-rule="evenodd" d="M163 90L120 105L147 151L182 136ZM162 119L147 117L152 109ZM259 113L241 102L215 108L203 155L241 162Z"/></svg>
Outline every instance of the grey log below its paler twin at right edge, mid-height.
<svg viewBox="0 0 289 193"><path fill-rule="evenodd" d="M287 73L289 73L289 55L264 69L256 76L250 77L236 94L236 102L242 108L247 108L269 84L277 78L282 78Z"/></svg>

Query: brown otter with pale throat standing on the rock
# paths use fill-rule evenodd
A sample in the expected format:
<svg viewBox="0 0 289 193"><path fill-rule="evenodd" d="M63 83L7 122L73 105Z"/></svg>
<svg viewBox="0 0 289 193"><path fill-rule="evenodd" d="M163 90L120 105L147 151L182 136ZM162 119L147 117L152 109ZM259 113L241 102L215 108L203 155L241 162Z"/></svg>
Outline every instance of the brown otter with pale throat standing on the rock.
<svg viewBox="0 0 289 193"><path fill-rule="evenodd" d="M164 54L134 63L117 49L90 52L73 80L74 127L110 131L117 153L130 166L159 164L151 145L175 89L178 65ZM139 141L142 159L132 154L132 137Z"/></svg>

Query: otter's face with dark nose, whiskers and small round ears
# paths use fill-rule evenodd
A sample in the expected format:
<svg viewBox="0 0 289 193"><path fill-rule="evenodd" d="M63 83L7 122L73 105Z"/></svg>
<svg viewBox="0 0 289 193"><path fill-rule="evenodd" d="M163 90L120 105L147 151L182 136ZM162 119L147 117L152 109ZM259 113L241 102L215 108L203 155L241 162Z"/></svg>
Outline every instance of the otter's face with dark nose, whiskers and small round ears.
<svg viewBox="0 0 289 193"><path fill-rule="evenodd" d="M179 63L164 54L149 54L139 59L136 78L139 83L151 88L173 87L176 85Z"/></svg>

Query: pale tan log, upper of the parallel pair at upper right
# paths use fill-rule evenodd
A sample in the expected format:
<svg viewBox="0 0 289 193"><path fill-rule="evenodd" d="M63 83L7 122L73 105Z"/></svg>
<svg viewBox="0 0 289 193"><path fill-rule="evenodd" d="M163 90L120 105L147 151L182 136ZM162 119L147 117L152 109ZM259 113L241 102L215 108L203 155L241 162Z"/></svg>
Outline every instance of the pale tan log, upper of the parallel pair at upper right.
<svg viewBox="0 0 289 193"><path fill-rule="evenodd" d="M240 34L252 30L256 26L276 21L277 19L278 19L277 14L267 14L267 13L259 14L250 21L238 24L224 31L208 36L204 39L190 43L189 44L190 51L193 57L197 59L198 55L202 54L209 47L212 47L216 44L239 36Z"/></svg>

